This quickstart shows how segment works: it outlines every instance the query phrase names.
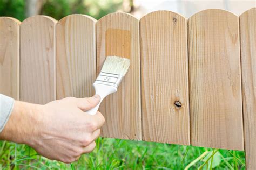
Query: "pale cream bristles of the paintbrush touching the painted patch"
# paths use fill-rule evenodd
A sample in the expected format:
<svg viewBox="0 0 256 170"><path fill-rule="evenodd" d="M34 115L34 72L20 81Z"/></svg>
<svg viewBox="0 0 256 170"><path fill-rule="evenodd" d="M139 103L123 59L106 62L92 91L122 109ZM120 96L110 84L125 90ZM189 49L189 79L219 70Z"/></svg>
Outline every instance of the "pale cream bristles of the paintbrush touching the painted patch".
<svg viewBox="0 0 256 170"><path fill-rule="evenodd" d="M107 56L102 67L102 72L125 76L130 67L130 60L118 56Z"/></svg>

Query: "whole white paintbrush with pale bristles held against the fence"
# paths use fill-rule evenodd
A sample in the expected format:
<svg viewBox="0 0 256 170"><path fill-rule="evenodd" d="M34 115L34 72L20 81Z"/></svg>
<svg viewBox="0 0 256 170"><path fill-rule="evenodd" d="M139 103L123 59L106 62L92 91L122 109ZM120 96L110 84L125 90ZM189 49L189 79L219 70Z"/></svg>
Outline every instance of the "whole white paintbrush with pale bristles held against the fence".
<svg viewBox="0 0 256 170"><path fill-rule="evenodd" d="M118 56L107 56L102 70L93 83L95 94L100 96L100 102L95 108L87 110L90 115L95 115L102 100L117 91L117 88L130 67L130 60Z"/></svg>

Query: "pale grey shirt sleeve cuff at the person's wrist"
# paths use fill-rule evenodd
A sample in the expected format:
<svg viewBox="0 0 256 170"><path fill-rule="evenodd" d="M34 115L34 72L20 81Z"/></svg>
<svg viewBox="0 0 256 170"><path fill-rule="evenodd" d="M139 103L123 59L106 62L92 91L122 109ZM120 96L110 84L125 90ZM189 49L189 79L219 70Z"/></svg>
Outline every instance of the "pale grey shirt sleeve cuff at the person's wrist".
<svg viewBox="0 0 256 170"><path fill-rule="evenodd" d="M14 99L0 94L0 132L4 129L12 109L14 108Z"/></svg>

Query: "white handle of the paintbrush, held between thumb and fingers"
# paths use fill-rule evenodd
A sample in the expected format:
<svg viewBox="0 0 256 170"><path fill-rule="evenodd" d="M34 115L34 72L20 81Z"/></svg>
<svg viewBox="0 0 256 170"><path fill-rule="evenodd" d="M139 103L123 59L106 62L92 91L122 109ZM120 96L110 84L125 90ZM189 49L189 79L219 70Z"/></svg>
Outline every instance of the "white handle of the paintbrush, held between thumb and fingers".
<svg viewBox="0 0 256 170"><path fill-rule="evenodd" d="M87 110L87 114L90 115L95 115L99 109L100 103L102 103L102 100L107 96L110 95L111 93L114 93L117 91L117 88L114 86L107 86L104 84L98 84L98 83L93 83L93 87L95 89L95 95L100 96L100 102L99 104L96 105L95 108L92 108L91 110Z"/></svg>

